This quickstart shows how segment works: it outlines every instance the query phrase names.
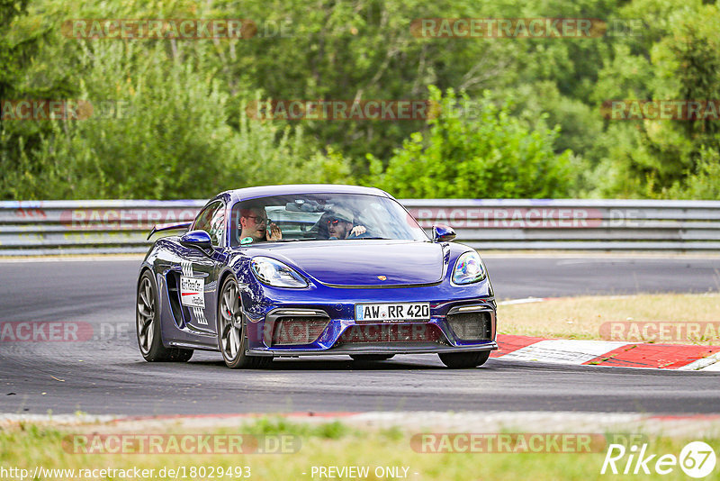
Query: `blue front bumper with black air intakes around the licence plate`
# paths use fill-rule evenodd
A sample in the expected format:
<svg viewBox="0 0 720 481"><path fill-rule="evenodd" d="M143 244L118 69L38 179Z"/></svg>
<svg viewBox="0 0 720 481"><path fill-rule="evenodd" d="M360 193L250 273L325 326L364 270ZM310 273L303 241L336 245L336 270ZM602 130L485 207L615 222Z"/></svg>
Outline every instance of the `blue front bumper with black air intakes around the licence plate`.
<svg viewBox="0 0 720 481"><path fill-rule="evenodd" d="M245 309L247 354L254 356L421 354L498 349L495 342L496 304L488 281L464 287L396 289L329 286L279 289L256 285L242 295L243 305L248 306ZM355 319L356 304L419 302L430 304L429 322L366 323ZM484 331L468 331L458 324L463 321L463 315L471 313L484 316ZM277 334L281 322L291 317L294 322L291 331L300 332L307 338ZM303 324L302 320L307 323ZM463 339L463 334L467 339Z"/></svg>

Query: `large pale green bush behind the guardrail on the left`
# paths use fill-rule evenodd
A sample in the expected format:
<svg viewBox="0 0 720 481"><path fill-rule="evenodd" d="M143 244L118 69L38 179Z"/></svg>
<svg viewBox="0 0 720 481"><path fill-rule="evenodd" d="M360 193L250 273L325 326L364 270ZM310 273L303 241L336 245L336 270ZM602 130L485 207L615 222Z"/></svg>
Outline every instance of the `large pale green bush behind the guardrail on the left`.
<svg viewBox="0 0 720 481"><path fill-rule="evenodd" d="M313 150L300 128L248 119L245 101L231 101L191 63L168 63L161 44L150 55L131 43L92 47L81 57L88 80L79 88L94 114L51 123L34 149L23 150L20 168L8 172L4 192L24 199L204 198L241 186L347 181L342 156ZM98 108L103 104L117 108Z"/></svg>

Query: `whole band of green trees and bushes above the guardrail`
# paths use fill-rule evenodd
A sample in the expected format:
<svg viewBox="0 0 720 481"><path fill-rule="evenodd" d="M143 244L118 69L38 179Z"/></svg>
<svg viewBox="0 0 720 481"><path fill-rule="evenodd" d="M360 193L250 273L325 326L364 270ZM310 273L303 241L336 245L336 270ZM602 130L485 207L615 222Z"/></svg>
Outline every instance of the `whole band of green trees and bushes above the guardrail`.
<svg viewBox="0 0 720 481"><path fill-rule="evenodd" d="M597 39L421 39L428 17L641 19ZM249 18L247 40L81 40L78 18ZM287 36L265 36L286 27ZM720 99L706 0L0 0L0 99L121 114L0 124L0 198L202 198L296 182L399 197L716 199L717 121L609 121L608 99ZM263 99L419 99L423 121L258 121ZM473 109L463 108L472 104ZM472 110L472 112L471 112Z"/></svg>

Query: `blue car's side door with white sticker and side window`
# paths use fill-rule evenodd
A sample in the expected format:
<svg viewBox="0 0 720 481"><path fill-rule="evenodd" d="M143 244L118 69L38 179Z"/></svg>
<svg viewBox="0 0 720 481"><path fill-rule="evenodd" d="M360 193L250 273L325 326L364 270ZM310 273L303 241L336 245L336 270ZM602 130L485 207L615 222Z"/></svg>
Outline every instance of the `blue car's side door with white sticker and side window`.
<svg viewBox="0 0 720 481"><path fill-rule="evenodd" d="M179 294L185 327L199 333L214 333L215 299L218 290L220 261L225 242L225 204L217 201L207 205L195 218L191 230L210 234L212 252L181 246L178 251Z"/></svg>

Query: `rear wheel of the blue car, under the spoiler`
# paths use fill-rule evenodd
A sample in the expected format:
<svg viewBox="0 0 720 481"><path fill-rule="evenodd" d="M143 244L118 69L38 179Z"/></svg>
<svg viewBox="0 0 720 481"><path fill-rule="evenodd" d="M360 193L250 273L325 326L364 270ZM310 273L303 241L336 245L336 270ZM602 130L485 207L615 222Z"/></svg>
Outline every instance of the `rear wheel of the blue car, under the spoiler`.
<svg viewBox="0 0 720 481"><path fill-rule="evenodd" d="M148 270L138 283L135 303L135 333L140 354L148 362L185 362L193 357L193 349L166 348L160 332L160 309L157 287Z"/></svg>

